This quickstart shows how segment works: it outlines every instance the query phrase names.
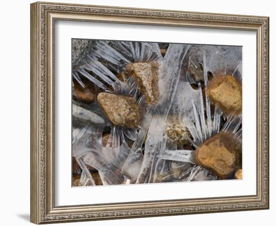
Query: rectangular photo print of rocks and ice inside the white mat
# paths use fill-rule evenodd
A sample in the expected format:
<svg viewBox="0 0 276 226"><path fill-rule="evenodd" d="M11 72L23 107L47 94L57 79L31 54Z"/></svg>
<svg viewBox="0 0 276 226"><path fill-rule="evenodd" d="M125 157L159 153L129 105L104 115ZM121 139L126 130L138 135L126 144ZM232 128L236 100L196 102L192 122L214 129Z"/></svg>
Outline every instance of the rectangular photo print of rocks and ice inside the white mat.
<svg viewBox="0 0 276 226"><path fill-rule="evenodd" d="M72 185L242 178L241 47L72 42Z"/></svg>

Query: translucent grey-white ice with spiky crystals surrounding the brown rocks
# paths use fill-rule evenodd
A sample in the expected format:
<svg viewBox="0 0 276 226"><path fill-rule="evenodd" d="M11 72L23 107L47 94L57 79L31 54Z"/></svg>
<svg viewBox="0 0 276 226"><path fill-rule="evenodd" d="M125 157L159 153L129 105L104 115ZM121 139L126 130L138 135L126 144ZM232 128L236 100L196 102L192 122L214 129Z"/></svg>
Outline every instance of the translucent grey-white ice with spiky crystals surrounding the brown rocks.
<svg viewBox="0 0 276 226"><path fill-rule="evenodd" d="M135 79L128 77L122 82L117 77L129 62L145 61L160 63L159 89L166 90L160 92L159 102L153 106L146 105ZM187 62L202 67L202 81L194 80ZM241 141L241 116L225 115L217 105L211 109L208 73L232 74L241 81L241 65L240 47L170 44L163 57L157 43L95 41L82 65L73 70L73 79L81 87L85 87L82 80L88 79L96 89L135 97L142 120L135 129L116 127L103 123L100 111L94 111L92 105L85 106L84 112L88 111L84 116L82 112L74 114L78 121L72 132L72 149L82 170L81 186L95 185L87 166L98 171L103 185L218 179L195 165L194 151L220 131L232 133ZM80 113L81 108L76 106L76 112ZM186 125L191 134L191 150L168 140L168 115ZM84 123L87 117L91 117L89 125ZM106 121L106 117L102 120ZM106 126L110 128L110 136L104 147L102 134ZM127 141L132 144L128 146Z"/></svg>

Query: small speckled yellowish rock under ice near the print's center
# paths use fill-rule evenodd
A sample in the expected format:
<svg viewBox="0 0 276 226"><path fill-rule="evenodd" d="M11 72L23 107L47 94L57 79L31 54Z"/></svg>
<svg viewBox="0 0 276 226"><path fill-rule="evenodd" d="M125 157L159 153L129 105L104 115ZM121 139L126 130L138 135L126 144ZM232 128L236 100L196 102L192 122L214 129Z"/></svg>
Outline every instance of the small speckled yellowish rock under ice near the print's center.
<svg viewBox="0 0 276 226"><path fill-rule="evenodd" d="M180 122L176 117L168 117L166 124L166 132L170 140L181 145L189 143L191 134L184 123Z"/></svg>

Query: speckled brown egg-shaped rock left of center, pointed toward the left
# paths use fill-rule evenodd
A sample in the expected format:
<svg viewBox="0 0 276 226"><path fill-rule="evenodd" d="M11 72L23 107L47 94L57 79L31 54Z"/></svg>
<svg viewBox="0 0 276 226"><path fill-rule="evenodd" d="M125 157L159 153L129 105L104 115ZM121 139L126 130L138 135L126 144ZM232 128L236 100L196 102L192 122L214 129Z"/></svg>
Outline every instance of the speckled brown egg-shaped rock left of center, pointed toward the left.
<svg viewBox="0 0 276 226"><path fill-rule="evenodd" d="M139 125L140 109L134 97L101 92L97 95L97 101L114 125L128 128Z"/></svg>

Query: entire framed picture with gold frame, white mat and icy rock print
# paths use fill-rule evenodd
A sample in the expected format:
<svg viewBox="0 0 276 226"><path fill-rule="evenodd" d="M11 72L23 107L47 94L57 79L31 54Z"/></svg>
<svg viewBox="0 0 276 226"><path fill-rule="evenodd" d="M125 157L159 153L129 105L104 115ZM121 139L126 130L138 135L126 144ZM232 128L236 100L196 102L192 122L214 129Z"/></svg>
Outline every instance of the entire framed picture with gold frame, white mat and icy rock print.
<svg viewBox="0 0 276 226"><path fill-rule="evenodd" d="M31 221L269 208L269 18L31 4Z"/></svg>

